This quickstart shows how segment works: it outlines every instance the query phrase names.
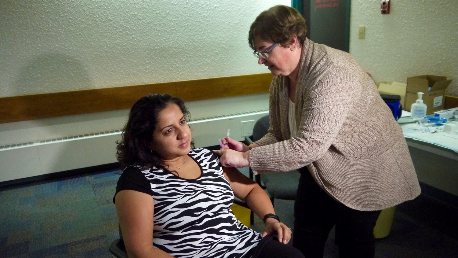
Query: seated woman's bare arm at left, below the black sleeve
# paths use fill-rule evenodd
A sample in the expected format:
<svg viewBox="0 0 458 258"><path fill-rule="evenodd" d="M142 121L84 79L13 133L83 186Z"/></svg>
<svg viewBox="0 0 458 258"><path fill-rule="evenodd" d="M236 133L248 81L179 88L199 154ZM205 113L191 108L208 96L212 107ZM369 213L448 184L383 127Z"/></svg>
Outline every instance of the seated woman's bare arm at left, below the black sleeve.
<svg viewBox="0 0 458 258"><path fill-rule="evenodd" d="M115 196L116 213L125 246L140 251L153 246L153 197L143 192L122 190Z"/></svg>

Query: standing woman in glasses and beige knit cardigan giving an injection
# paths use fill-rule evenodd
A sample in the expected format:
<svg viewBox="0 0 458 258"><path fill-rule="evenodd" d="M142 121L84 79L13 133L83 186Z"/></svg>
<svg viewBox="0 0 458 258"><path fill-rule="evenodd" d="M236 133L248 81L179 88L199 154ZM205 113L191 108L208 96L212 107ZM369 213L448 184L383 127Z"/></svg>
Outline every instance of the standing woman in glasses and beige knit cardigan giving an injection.
<svg viewBox="0 0 458 258"><path fill-rule="evenodd" d="M305 20L284 5L263 11L248 42L274 75L270 127L246 146L225 137L221 164L254 174L301 172L293 246L322 257L336 226L340 257L374 257L382 209L420 194L403 132L365 71L346 52L305 37Z"/></svg>

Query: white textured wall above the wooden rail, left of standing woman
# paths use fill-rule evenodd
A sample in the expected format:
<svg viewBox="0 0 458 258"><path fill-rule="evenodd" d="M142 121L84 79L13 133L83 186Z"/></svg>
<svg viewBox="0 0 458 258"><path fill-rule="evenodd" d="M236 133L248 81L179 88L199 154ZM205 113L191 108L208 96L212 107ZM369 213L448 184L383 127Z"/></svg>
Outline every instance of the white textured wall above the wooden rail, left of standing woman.
<svg viewBox="0 0 458 258"><path fill-rule="evenodd" d="M1 0L0 97L267 72L251 22L291 0Z"/></svg>

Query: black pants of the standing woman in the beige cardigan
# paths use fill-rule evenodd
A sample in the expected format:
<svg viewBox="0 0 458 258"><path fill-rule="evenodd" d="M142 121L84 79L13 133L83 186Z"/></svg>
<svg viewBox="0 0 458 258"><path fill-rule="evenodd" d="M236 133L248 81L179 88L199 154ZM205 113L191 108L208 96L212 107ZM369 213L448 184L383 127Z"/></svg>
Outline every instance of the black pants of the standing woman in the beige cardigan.
<svg viewBox="0 0 458 258"><path fill-rule="evenodd" d="M327 236L335 225L339 257L374 257L373 230L380 212L354 210L339 203L305 169L294 202L293 246L307 258L322 258Z"/></svg>

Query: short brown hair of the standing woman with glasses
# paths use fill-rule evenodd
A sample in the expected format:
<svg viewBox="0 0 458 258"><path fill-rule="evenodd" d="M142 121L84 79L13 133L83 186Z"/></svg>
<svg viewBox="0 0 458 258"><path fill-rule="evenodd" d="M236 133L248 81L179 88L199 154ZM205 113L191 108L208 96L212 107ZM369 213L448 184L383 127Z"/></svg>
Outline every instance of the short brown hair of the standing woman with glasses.
<svg viewBox="0 0 458 258"><path fill-rule="evenodd" d="M259 37L262 40L289 47L291 36L296 35L301 45L306 34L305 19L299 11L286 5L275 5L260 13L251 23L248 44L255 49L254 39Z"/></svg>

